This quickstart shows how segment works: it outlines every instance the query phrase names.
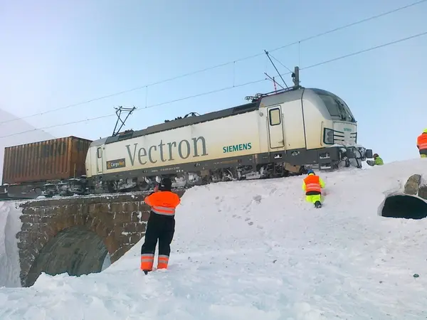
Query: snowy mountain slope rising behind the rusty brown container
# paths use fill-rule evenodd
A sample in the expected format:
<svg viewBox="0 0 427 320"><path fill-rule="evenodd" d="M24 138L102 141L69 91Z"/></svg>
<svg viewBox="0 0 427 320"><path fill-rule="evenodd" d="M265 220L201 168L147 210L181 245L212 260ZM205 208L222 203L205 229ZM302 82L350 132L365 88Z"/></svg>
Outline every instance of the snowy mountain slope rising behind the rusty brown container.
<svg viewBox="0 0 427 320"><path fill-rule="evenodd" d="M29 130L31 131L26 132ZM26 133L19 134L20 132ZM11 136L6 137L9 135ZM54 137L43 130L34 128L23 119L19 119L13 114L0 109L0 182L3 176L4 148L6 146L29 144L48 139L54 139Z"/></svg>

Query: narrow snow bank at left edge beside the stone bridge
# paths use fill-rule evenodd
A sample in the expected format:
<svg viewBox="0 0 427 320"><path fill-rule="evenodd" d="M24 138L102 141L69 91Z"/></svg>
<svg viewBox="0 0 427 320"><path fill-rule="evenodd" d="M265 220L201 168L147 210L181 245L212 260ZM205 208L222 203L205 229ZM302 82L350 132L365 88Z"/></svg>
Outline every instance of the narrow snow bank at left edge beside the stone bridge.
<svg viewBox="0 0 427 320"><path fill-rule="evenodd" d="M21 208L13 201L0 202L0 287L21 287L18 239Z"/></svg>

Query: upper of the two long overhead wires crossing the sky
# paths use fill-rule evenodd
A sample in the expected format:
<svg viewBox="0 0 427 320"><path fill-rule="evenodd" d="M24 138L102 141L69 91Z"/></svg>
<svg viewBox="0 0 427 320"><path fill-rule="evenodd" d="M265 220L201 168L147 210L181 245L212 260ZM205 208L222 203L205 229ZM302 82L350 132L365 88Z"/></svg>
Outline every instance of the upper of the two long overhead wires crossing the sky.
<svg viewBox="0 0 427 320"><path fill-rule="evenodd" d="M295 46L295 45L300 44L300 43L302 43L302 42L310 41L310 40L312 40L312 39L314 39L314 38L318 38L318 37L321 37L321 36L325 36L325 35L327 35L327 34L329 34L329 33L334 33L334 32L336 32L336 31L339 31L339 30L342 30L342 29L345 29L345 28L349 28L349 27L351 27L351 26L356 26L356 25L358 25L358 24L360 24L360 23L364 23L364 22L367 22L367 21L371 21L371 20L374 20L374 19L376 19L376 18L381 18L381 17L383 17L383 16L387 16L387 15L389 15L389 14L394 14L395 12L398 12L398 11L401 11L401 10L404 10L404 9L408 9L408 8L410 8L410 7L412 7L412 6L416 6L416 5L418 5L418 4L422 4L423 2L426 2L426 1L427 1L427 0L419 0L419 1L413 2L413 3L411 3L411 4L407 4L406 6L401 6L401 7L399 7L399 8L396 8L396 9L393 9L393 10L390 10L390 11L383 12L382 14L377 14L377 15L375 15L375 16L370 16L369 18L364 18L364 19L362 19L362 20L355 21L355 22L352 22L352 23L346 24L346 25L344 25L344 26L339 26L339 27L337 27L337 28L333 28L333 29L331 29L331 30L324 31L324 32L322 32L322 33L317 33L317 34L315 34L315 35L313 35L313 36L309 36L309 37L307 37L307 38L302 38L302 39L301 39L301 40L299 40L299 41L295 41L295 42L292 42L292 43L288 43L288 44L286 44L286 45L284 45L284 46L280 46L280 47L277 47L277 48L273 48L273 49L268 50L268 51L271 53L271 52L274 52L274 51L277 51L277 50L281 50L281 49L284 49L284 48L288 48L288 47L290 47L290 46ZM105 99L107 99L107 98L109 98L109 97L115 97L115 96L117 96L117 95L123 95L123 94L125 94L125 93L129 93L129 92L133 92L133 91L137 91L137 90L142 90L142 89L146 89L146 93L145 93L145 95L146 95L146 96L145 96L145 97L146 97L146 100L147 100L147 89L148 89L148 87L153 87L154 85L160 85L160 84L162 84L162 83L164 83L164 82L169 82L169 81L172 81L172 80L177 80L177 79L180 79L180 78L189 77L190 75L196 75L197 73L204 73L204 72L206 72L206 71L213 70L213 69L216 69L216 68L221 68L221 67L224 67L224 66L226 66L226 65L235 64L236 62L241 62L241 61L244 61L244 60L248 60L248 59L252 59L252 58L257 58L257 57L259 57L259 56L261 56L261 55L264 55L264 54L265 54L265 53L257 53L257 54L254 54L254 55L248 55L248 56L246 56L246 57L238 58L238 59L235 59L235 60L233 60L233 61L228 61L228 62L226 62L226 63L221 63L221 64L218 64L218 65L213 65L213 66L211 66L211 67L207 67L207 68L199 69L199 70L196 70L196 71L192 71L192 72L190 72L190 73L184 73L184 74L182 74L182 75L177 75L177 76L172 77L172 78L167 78L167 79L164 79L164 80L159 80L159 81L157 81L157 82L152 82L152 83L149 83L149 84L147 84L147 85L140 85L140 86L138 86L138 87L133 87L132 89L123 90L123 91L120 91L120 92L115 92L115 93L112 93L112 94L110 94L110 95L104 95L104 96L101 96L101 97L96 97L96 98L93 98L93 99L90 99L90 100L85 100L85 101L82 101L82 102L73 103L73 104L71 104L71 105L65 105L64 107L58 107L58 108L55 108L55 109L46 110L46 111L44 111L44 112L38 112L38 113L36 113L36 114L29 114L29 115L27 115L27 116L20 117L20 118L17 118L17 119L11 119L11 120L6 120L6 121L0 121L0 124L9 123L9 122L14 122L14 121L17 121L17 120L19 120L19 119L28 119L28 118L31 118L31 117L37 117L37 116L41 116L41 115L48 114L48 113L51 113L51 112L57 112L57 111L60 111L60 110L69 109L69 108L71 108L71 107L78 107L79 105L87 105L87 104L88 104L88 103L90 103L90 102L95 102L95 101L99 101L99 100L105 100ZM146 105L147 105L147 103L146 103Z"/></svg>

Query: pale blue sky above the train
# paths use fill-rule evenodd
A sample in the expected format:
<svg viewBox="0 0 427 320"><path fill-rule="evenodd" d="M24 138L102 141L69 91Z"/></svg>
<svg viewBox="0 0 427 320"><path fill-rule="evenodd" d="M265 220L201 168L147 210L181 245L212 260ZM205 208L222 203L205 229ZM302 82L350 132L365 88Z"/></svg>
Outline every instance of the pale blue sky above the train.
<svg viewBox="0 0 427 320"><path fill-rule="evenodd" d="M26 119L35 127L49 127L135 105L140 110L127 128L142 129L189 112L240 105L246 95L271 91L273 84L263 81L145 109L263 80L264 72L275 75L265 55L144 85L263 53L414 1L2 1L0 109L26 117L142 87ZM424 2L272 54L288 68L305 68L427 31L426 16ZM342 97L359 122L359 143L384 161L414 158L416 137L427 127L426 56L427 36L418 37L302 70L301 84ZM285 81L290 84L289 75ZM112 133L115 120L113 115L46 131L97 139ZM2 148L4 141L0 138Z"/></svg>

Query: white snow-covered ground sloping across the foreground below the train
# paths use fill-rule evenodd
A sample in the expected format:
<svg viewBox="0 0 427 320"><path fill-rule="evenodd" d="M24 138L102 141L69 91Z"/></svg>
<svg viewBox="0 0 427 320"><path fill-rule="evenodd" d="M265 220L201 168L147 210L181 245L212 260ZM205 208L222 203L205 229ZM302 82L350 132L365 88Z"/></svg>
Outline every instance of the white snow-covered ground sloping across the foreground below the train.
<svg viewBox="0 0 427 320"><path fill-rule="evenodd" d="M99 274L1 288L0 319L426 319L427 219L378 215L417 173L425 159L322 174L322 209L301 176L191 188L168 270L139 270L142 239Z"/></svg>

